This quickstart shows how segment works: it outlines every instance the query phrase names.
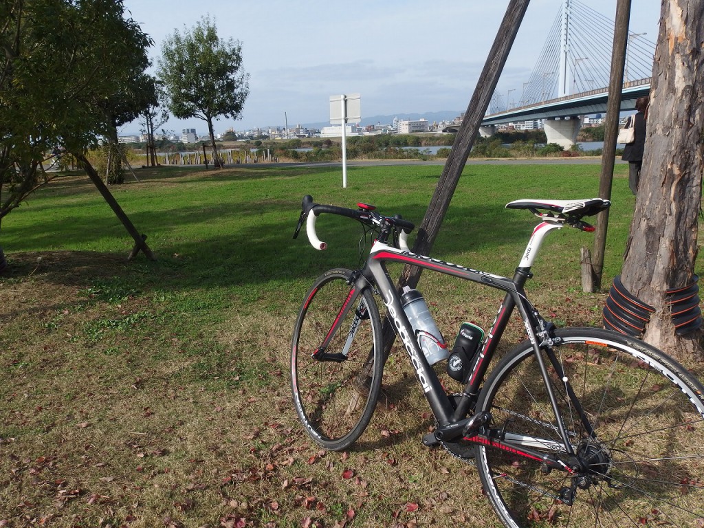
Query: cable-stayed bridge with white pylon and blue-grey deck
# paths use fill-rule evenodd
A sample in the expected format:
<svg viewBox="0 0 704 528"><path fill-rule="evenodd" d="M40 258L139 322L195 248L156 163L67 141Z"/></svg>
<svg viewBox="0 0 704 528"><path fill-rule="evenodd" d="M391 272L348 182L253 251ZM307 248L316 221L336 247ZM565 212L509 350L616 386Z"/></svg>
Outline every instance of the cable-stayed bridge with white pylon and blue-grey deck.
<svg viewBox="0 0 704 528"><path fill-rule="evenodd" d="M578 0L565 0L529 78L522 87L495 92L482 135L496 125L545 120L548 142L572 146L579 116L606 111L614 21ZM630 32L621 110L635 108L650 92L655 42Z"/></svg>

